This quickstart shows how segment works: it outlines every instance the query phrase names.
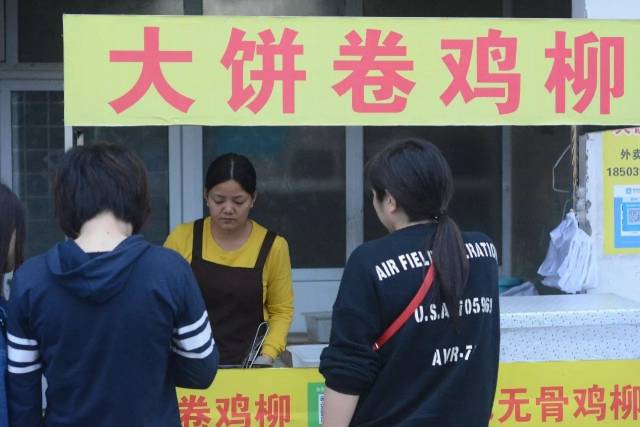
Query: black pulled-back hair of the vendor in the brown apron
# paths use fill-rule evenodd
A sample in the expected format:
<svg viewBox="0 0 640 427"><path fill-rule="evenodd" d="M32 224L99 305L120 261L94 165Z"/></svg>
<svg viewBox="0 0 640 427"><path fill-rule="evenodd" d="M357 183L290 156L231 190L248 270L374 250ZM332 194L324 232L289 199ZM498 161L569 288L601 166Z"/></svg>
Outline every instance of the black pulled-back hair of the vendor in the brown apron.
<svg viewBox="0 0 640 427"><path fill-rule="evenodd" d="M217 157L207 168L204 188L207 193L213 187L230 180L236 181L247 193L256 192L256 170L242 154L227 153Z"/></svg>

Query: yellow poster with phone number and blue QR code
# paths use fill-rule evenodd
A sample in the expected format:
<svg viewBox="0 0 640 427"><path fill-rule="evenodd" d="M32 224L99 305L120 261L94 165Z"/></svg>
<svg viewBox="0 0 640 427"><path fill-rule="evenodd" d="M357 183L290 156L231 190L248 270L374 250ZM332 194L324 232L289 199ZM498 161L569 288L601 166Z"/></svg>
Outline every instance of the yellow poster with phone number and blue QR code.
<svg viewBox="0 0 640 427"><path fill-rule="evenodd" d="M604 132L605 254L640 253L640 128Z"/></svg>

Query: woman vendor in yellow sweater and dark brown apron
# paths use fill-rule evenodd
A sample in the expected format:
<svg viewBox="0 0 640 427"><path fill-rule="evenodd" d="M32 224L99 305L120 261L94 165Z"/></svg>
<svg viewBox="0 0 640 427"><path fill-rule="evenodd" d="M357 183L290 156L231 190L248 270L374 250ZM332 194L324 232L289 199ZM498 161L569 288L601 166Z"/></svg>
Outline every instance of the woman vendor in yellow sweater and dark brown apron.
<svg viewBox="0 0 640 427"><path fill-rule="evenodd" d="M271 365L284 350L293 317L287 241L249 219L256 172L245 156L228 153L209 165L204 198L210 215L179 225L164 245L191 263L220 364L241 364L266 321L269 332L256 364Z"/></svg>

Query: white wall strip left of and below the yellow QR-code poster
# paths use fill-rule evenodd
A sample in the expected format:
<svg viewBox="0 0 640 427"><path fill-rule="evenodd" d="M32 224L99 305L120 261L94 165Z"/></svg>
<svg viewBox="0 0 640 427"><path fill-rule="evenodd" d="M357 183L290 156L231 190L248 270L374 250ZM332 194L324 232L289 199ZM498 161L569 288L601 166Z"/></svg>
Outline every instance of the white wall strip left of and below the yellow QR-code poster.
<svg viewBox="0 0 640 427"><path fill-rule="evenodd" d="M593 293L614 293L640 301L640 255L604 254L604 187L602 132L588 134L581 147L581 183L586 189L587 221L598 261L598 288Z"/></svg>

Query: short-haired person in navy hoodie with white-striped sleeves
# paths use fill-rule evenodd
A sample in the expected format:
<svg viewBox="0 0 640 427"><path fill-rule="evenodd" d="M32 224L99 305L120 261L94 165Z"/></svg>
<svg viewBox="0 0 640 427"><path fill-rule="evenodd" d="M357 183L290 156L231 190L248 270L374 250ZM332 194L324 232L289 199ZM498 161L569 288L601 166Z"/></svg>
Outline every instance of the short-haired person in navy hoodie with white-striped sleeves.
<svg viewBox="0 0 640 427"><path fill-rule="evenodd" d="M76 147L54 193L69 240L23 264L9 301L11 424L179 426L175 387L208 387L218 351L189 265L137 234L150 210L142 162Z"/></svg>

